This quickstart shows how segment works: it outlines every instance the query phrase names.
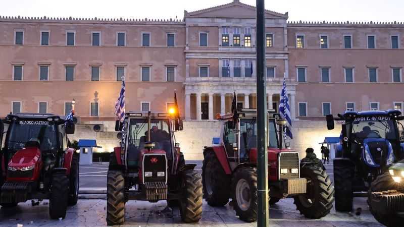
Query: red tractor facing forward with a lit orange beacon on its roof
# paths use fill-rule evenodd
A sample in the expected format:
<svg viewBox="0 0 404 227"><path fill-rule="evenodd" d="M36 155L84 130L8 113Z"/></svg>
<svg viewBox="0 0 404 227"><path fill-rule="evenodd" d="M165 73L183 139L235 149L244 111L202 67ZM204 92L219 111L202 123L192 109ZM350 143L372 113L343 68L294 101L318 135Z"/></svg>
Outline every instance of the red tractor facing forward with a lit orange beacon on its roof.
<svg viewBox="0 0 404 227"><path fill-rule="evenodd" d="M158 202L179 206L184 222L197 222L202 213L202 178L195 164L185 164L174 132L183 129L182 120L169 113L127 112L120 147L111 153L107 179L107 223L125 221L128 200ZM178 116L178 117L177 117ZM119 133L118 133L119 134Z"/></svg>

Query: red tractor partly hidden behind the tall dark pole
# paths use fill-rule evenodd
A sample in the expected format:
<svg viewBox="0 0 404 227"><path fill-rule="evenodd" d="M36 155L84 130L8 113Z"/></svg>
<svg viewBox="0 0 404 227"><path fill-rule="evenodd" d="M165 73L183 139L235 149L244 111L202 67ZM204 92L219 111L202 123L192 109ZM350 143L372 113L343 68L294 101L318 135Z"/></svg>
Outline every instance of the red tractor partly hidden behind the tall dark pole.
<svg viewBox="0 0 404 227"><path fill-rule="evenodd" d="M271 114L268 110L268 116ZM275 115L278 116L278 115ZM224 206L231 198L241 220L257 220L257 111L241 109L219 117L221 137L205 147L204 196L211 206ZM279 136L277 134L279 125ZM326 216L334 201L334 187L322 164L300 163L298 152L282 148L285 120L268 117L268 173L270 204L293 197L308 218ZM321 161L320 161L321 163ZM230 186L230 187L229 187Z"/></svg>

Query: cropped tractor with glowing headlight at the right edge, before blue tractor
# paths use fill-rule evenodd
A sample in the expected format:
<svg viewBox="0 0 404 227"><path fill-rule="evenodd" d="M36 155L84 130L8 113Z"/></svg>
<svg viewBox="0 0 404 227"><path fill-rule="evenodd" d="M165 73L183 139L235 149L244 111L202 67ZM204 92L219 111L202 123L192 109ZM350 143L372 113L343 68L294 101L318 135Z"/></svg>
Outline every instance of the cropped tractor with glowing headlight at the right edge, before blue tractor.
<svg viewBox="0 0 404 227"><path fill-rule="evenodd" d="M401 144L404 149L404 143ZM404 221L404 159L391 165L371 183L370 212L386 226L402 226Z"/></svg>

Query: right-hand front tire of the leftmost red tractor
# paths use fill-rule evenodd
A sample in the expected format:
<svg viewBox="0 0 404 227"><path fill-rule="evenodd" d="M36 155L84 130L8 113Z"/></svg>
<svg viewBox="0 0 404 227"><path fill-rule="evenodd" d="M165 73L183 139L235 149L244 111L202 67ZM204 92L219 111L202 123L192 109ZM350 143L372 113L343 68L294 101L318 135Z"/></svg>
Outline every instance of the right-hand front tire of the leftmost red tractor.
<svg viewBox="0 0 404 227"><path fill-rule="evenodd" d="M66 216L69 184L69 178L65 173L52 175L51 197L49 198L49 216L52 219L65 218Z"/></svg>

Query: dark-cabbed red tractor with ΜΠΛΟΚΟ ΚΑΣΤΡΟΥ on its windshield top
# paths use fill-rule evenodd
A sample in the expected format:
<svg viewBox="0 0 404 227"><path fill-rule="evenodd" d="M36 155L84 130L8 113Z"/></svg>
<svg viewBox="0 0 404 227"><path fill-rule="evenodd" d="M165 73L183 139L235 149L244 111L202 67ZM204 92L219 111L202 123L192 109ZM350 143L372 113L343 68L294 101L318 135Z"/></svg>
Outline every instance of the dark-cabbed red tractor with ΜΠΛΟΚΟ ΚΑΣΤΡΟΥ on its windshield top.
<svg viewBox="0 0 404 227"><path fill-rule="evenodd" d="M73 121L51 113L10 114L0 121L0 144L6 135L0 152L0 205L49 199L51 218L64 218L79 190L79 154L67 138L74 133Z"/></svg>

